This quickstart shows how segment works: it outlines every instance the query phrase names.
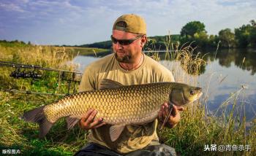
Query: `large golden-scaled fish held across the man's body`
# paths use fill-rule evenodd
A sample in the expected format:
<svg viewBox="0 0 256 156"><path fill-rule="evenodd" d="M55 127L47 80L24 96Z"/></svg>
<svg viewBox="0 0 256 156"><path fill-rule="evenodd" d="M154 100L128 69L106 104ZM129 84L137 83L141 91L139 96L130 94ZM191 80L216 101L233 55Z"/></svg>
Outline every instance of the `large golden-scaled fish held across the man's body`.
<svg viewBox="0 0 256 156"><path fill-rule="evenodd" d="M89 109L96 109L96 119L103 117L110 127L112 141L118 139L125 125L141 125L157 118L164 102L184 105L202 95L200 87L177 82L157 82L145 85L124 86L103 79L100 90L90 90L69 95L61 100L40 106L23 114L23 120L39 124L39 137L45 136L61 117L67 117L72 128Z"/></svg>

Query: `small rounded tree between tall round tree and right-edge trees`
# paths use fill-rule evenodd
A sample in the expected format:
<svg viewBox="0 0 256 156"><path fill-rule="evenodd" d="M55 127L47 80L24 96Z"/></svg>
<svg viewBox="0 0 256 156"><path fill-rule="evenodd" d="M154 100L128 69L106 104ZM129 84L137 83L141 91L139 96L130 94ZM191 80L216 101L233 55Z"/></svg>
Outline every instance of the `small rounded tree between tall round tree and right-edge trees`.
<svg viewBox="0 0 256 156"><path fill-rule="evenodd" d="M219 31L219 40L223 47L235 47L235 34L230 28Z"/></svg>

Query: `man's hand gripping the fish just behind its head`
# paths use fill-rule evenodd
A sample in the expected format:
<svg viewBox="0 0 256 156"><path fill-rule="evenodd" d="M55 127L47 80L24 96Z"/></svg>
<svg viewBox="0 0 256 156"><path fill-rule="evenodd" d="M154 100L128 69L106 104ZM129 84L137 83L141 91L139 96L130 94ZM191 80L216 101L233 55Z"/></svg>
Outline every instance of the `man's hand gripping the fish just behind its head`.
<svg viewBox="0 0 256 156"><path fill-rule="evenodd" d="M167 122L165 124L168 128L173 128L177 125L177 123L181 120L180 111L183 111L183 106L175 106L173 105L173 110L170 113L169 119L167 119ZM158 119L159 121L163 122L165 120L165 117L169 114L169 106L167 103L162 104L160 111L158 112Z"/></svg>

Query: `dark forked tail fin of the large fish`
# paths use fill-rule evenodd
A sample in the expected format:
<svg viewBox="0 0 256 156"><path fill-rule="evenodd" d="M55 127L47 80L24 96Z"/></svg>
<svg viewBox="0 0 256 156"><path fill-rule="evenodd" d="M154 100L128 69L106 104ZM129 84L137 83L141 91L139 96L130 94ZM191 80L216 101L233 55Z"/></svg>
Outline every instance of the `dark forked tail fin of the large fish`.
<svg viewBox="0 0 256 156"><path fill-rule="evenodd" d="M44 114L44 107L40 106L36 109L32 109L29 112L25 112L21 119L25 120L26 122L37 122L39 124L39 138L43 138L53 126L53 123L47 120Z"/></svg>

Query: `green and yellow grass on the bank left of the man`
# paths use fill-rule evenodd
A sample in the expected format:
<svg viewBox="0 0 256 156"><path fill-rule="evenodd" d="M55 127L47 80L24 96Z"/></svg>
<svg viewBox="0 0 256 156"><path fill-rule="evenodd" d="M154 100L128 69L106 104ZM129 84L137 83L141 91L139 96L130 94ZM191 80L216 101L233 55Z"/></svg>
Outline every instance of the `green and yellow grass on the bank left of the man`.
<svg viewBox="0 0 256 156"><path fill-rule="evenodd" d="M0 47L0 60L32 64L53 69L75 70L75 64L67 66L72 52L64 47ZM0 89L15 88L47 93L67 93L67 82L59 82L59 73L46 72L44 79L12 79L12 69L1 67ZM72 155L86 144L86 132L79 128L67 130L64 120L53 126L45 139L38 138L38 125L20 120L23 112L50 104L59 96L25 95L0 91L0 149L20 149L23 155ZM68 134L68 135L67 135ZM2 152L0 150L0 152Z"/></svg>

